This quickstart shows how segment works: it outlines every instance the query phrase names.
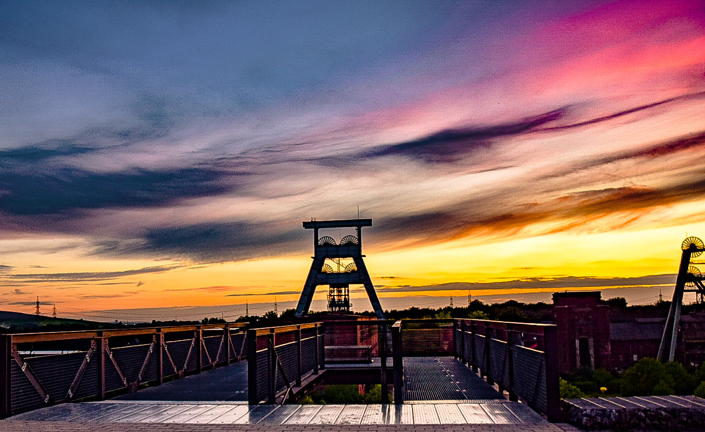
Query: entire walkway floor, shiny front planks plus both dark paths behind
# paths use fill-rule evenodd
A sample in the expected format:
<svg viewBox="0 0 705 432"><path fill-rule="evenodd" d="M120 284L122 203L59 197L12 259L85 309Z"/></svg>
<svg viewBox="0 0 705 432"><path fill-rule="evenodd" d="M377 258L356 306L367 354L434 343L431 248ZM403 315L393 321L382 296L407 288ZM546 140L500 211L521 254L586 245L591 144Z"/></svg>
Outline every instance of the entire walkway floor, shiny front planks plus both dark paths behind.
<svg viewBox="0 0 705 432"><path fill-rule="evenodd" d="M546 424L526 405L505 400L453 357L407 357L404 366L404 405L246 405L247 362L240 362L109 401L61 404L9 420L262 426Z"/></svg>

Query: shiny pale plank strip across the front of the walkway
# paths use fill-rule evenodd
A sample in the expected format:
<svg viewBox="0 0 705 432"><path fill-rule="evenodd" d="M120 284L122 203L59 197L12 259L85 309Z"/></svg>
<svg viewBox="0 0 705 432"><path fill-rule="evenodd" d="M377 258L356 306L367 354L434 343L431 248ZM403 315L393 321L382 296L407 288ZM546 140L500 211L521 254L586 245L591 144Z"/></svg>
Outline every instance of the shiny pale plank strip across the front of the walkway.
<svg viewBox="0 0 705 432"><path fill-rule="evenodd" d="M546 424L519 402L408 405L244 405L238 402L109 401L63 404L11 417L12 421L90 424L417 425Z"/></svg>

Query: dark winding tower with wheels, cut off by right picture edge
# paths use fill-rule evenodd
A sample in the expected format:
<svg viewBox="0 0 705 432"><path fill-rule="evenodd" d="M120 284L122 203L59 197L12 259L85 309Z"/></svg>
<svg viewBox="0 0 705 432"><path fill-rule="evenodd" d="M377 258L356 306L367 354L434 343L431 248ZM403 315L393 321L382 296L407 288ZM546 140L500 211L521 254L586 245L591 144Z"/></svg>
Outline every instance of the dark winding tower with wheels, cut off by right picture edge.
<svg viewBox="0 0 705 432"><path fill-rule="evenodd" d="M703 302L705 285L704 276L699 269L691 264L705 264L705 261L692 261L705 251L703 241L698 237L687 237L680 245L682 255L680 256L680 266L678 276L675 279L675 290L673 290L673 301L670 303L666 326L663 327L661 345L658 346L658 359L664 362L673 362L675 347L678 342L678 326L680 325L680 309L683 304L683 292L695 292L695 299L698 303Z"/></svg>

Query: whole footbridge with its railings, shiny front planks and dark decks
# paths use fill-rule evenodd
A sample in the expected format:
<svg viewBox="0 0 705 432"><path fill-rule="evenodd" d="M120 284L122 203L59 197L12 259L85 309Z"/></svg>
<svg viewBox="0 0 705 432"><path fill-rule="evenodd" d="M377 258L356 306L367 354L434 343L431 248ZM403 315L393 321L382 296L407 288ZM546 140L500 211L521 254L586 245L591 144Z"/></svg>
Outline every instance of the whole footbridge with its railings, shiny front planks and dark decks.
<svg viewBox="0 0 705 432"><path fill-rule="evenodd" d="M5 335L1 402L11 421L75 424L548 426L555 336L458 319ZM298 405L337 383L380 384L382 403Z"/></svg>

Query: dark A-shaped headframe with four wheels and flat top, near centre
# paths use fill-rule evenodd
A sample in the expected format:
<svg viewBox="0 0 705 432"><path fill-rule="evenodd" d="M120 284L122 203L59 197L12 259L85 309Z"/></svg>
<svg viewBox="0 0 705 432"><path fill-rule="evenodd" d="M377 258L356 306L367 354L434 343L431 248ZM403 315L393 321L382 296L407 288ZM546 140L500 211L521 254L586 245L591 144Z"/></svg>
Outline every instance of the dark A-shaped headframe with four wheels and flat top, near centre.
<svg viewBox="0 0 705 432"><path fill-rule="evenodd" d="M309 221L303 223L304 228L312 229L314 232L314 256L311 269L309 270L301 298L296 307L296 315L307 314L314 291L318 285L329 285L331 288L347 287L351 283L364 285L367 291L369 302L378 319L386 319L384 310L379 304L379 298L372 285L372 280L367 273L367 267L362 258L362 227L372 226L372 219L344 219L339 221ZM319 230L323 228L355 228L357 237L346 235L339 244L331 237L319 237ZM352 258L354 265L348 264L343 271L335 272L326 264L326 259Z"/></svg>

